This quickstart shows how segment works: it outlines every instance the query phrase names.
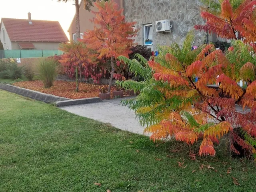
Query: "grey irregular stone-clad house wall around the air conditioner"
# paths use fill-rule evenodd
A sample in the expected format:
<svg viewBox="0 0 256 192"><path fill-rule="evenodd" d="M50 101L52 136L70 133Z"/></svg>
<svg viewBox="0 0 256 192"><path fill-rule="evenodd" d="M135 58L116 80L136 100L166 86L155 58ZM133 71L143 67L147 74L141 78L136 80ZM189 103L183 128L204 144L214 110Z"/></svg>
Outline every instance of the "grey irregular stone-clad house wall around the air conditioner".
<svg viewBox="0 0 256 192"><path fill-rule="evenodd" d="M170 45L177 42L180 46L184 42L188 31L196 24L204 24L200 16L198 0L123 0L126 21L137 22L136 29L140 29L136 43L144 44L144 24L153 24L152 50L157 44ZM156 21L170 20L171 33L156 32ZM205 32L196 31L194 45L200 45L206 38Z"/></svg>

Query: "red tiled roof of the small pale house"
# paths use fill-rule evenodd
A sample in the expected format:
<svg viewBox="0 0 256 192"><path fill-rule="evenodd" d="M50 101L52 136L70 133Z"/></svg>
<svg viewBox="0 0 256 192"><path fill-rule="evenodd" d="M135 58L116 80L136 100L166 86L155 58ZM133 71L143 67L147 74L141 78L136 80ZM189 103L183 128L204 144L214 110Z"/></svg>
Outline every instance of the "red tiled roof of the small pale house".
<svg viewBox="0 0 256 192"><path fill-rule="evenodd" d="M68 42L58 21L2 18L11 41L26 42Z"/></svg>

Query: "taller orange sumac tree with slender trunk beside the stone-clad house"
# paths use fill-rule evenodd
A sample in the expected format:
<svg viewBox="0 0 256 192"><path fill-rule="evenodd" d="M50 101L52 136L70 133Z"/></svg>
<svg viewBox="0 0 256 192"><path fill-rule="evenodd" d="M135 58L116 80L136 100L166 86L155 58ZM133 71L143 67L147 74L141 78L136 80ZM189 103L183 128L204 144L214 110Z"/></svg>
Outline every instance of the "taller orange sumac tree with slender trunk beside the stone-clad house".
<svg viewBox="0 0 256 192"><path fill-rule="evenodd" d="M134 44L134 22L125 22L123 9L118 10L118 5L112 0L95 3L98 12L92 13L95 17L94 30L88 30L84 34L83 42L98 53L98 59L106 58L111 62L111 76L108 87L110 92L112 79L115 71L115 59L119 55L128 57L131 53L130 47Z"/></svg>

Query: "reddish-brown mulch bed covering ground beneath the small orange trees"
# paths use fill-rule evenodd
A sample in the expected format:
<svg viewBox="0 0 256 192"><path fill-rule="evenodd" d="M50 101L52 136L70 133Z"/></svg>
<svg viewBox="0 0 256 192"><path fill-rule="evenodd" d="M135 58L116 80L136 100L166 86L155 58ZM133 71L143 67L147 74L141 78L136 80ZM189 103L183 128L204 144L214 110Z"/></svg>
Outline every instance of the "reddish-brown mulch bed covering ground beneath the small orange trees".
<svg viewBox="0 0 256 192"><path fill-rule="evenodd" d="M99 87L102 85L88 84L88 83L80 83L79 84L79 92L76 92L76 82L66 82L66 81L54 81L54 86L50 88L44 88L44 84L42 81L23 81L16 82L12 85L26 88L34 91L39 91L46 94L52 94L59 97L66 97L70 99L82 99L82 98L91 98L99 96ZM108 87L106 85L106 87ZM115 87L111 88L111 92L115 90ZM124 96L127 95L124 92ZM112 97L112 93L111 93Z"/></svg>

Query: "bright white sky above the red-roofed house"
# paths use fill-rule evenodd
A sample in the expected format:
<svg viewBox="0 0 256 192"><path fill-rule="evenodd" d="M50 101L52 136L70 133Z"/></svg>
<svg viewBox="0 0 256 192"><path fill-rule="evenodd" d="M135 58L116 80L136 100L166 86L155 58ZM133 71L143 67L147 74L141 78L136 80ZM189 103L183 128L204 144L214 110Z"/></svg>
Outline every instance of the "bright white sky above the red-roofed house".
<svg viewBox="0 0 256 192"><path fill-rule="evenodd" d="M68 35L68 28L75 14L73 0L57 2L57 0L0 0L0 18L28 19L28 11L32 20L52 20L60 22Z"/></svg>

